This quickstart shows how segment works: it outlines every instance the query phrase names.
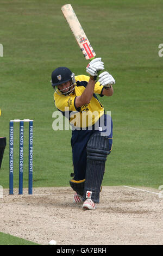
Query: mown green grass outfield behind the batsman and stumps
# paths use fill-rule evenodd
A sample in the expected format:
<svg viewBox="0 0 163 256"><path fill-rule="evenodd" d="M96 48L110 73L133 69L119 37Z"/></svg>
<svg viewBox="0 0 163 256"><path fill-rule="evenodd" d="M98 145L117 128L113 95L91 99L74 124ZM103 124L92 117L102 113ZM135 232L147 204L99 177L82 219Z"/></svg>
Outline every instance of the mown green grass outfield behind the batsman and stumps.
<svg viewBox="0 0 163 256"><path fill-rule="evenodd" d="M62 16L60 8L66 3L72 4L97 56L116 80L114 95L100 98L114 122L113 150L103 185L158 188L163 184L163 57L158 55L163 43L161 0L1 1L0 136L7 137L7 148L0 185L9 187L9 120L30 118L34 119L33 186L69 186L71 131L52 129L56 108L51 73L65 65L76 75L86 75L87 62ZM17 135L18 127L15 187ZM26 152L25 157L27 187Z"/></svg>

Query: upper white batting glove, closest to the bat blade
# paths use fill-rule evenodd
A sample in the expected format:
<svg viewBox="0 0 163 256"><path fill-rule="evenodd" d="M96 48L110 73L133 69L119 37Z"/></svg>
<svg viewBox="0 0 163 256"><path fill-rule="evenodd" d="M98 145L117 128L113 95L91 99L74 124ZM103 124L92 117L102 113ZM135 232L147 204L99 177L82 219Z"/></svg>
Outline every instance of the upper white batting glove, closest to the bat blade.
<svg viewBox="0 0 163 256"><path fill-rule="evenodd" d="M91 76L97 76L97 71L104 70L104 63L101 58L91 60L86 67L86 72Z"/></svg>

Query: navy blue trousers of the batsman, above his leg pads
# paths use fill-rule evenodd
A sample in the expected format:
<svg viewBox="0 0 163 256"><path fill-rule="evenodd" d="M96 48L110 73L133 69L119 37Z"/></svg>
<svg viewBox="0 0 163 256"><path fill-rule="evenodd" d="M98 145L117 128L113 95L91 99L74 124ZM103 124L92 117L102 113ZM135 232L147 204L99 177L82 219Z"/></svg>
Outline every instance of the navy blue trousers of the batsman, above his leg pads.
<svg viewBox="0 0 163 256"><path fill-rule="evenodd" d="M108 120L108 119L107 119ZM86 174L86 146L87 142L89 141L91 135L94 132L103 132L104 134L110 138L109 139L109 154L111 153L112 149L112 119L109 117L109 124L106 122L106 115L104 116L104 125L106 129L102 128L103 125L99 123L99 130L95 130L93 126L92 130L74 130L72 131L72 138L71 138L71 147L72 147L72 161L73 161L73 168L74 168L74 180L83 180L85 179ZM109 126L109 129L107 127ZM108 132L109 131L109 132Z"/></svg>

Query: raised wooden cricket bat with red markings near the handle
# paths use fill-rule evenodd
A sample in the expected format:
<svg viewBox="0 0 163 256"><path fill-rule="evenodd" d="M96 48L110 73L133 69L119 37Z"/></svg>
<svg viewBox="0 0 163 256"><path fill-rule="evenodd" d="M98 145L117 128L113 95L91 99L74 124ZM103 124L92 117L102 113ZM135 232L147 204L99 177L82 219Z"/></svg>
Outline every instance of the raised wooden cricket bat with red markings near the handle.
<svg viewBox="0 0 163 256"><path fill-rule="evenodd" d="M86 37L86 34L84 33L84 30L82 26L80 25L80 22L78 21L78 18L76 14L74 13L74 10L71 6L71 4L65 4L61 7L62 13L68 23L68 25L71 28L71 31L74 35L74 37L77 40L77 43L80 47L80 50L83 52L84 57L87 60L91 60L96 56L95 51L93 50L89 40Z"/></svg>

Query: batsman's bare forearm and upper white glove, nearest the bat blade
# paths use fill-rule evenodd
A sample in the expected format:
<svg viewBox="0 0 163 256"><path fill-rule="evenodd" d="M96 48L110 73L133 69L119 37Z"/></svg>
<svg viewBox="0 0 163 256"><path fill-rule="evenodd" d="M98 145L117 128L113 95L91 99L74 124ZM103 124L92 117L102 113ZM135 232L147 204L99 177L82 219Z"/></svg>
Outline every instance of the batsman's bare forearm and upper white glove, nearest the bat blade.
<svg viewBox="0 0 163 256"><path fill-rule="evenodd" d="M76 107L79 108L85 104L88 104L90 100L92 99L94 89L95 89L95 83L96 83L96 77L97 77L97 71L104 70L104 63L101 61L101 58L93 59L89 65L86 67L86 72L90 75L90 80L87 83L87 86L82 93L82 95L76 97Z"/></svg>

